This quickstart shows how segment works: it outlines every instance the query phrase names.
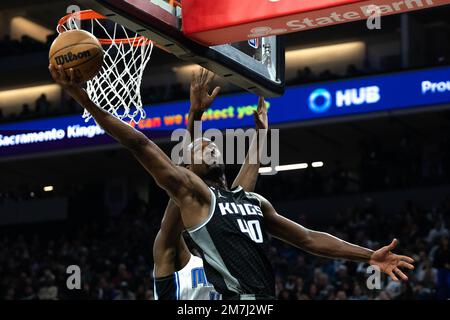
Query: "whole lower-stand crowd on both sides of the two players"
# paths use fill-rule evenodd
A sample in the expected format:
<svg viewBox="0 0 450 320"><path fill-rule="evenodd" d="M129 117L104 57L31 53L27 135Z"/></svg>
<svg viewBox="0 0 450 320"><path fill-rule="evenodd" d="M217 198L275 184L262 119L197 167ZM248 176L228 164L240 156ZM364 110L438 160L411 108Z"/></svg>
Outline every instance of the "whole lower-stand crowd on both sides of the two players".
<svg viewBox="0 0 450 320"><path fill-rule="evenodd" d="M153 299L152 244L162 208L134 200L119 216L93 214L76 223L47 223L2 229L1 299ZM369 248L399 239L398 252L413 256L409 281L383 276L369 290L367 265L318 258L272 240L268 254L281 300L388 300L450 298L450 197L431 208L405 203L399 212L376 204L343 208L326 223L313 216L299 223ZM20 230L20 231L19 231ZM66 269L80 267L81 290L68 290Z"/></svg>

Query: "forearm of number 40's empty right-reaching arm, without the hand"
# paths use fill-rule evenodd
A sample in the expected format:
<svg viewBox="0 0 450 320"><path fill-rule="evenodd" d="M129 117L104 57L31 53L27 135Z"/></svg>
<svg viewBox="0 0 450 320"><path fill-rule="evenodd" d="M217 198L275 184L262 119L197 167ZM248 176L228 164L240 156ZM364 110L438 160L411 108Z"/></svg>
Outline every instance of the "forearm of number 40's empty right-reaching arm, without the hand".
<svg viewBox="0 0 450 320"><path fill-rule="evenodd" d="M369 262L373 254L370 249L318 231L309 231L308 241L303 242L302 247L315 255L360 262Z"/></svg>

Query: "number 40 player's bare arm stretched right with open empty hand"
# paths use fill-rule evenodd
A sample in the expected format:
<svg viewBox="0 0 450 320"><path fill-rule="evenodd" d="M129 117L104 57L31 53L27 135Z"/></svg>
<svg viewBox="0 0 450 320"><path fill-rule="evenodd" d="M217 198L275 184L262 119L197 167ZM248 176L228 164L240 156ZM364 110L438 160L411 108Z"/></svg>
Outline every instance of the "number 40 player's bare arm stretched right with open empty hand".
<svg viewBox="0 0 450 320"><path fill-rule="evenodd" d="M378 266L381 271L387 273L393 280L398 281L408 277L400 268L414 269L414 260L407 256L397 255L392 250L397 246L395 239L389 246L377 251L348 243L328 233L309 230L281 215L279 215L269 201L261 198L264 223L270 234L297 248L314 255L334 259L345 259L366 262Z"/></svg>

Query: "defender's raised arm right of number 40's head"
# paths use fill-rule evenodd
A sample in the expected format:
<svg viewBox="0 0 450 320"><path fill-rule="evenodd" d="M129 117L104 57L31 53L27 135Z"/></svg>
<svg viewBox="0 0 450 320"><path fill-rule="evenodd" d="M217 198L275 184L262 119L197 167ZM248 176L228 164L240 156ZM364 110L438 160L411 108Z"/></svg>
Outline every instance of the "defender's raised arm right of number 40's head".
<svg viewBox="0 0 450 320"><path fill-rule="evenodd" d="M232 187L241 186L247 192L255 190L258 181L261 151L266 142L269 120L267 117L267 105L263 97L259 97L258 109L254 111L256 133L252 138L245 162L242 164L239 174L233 181Z"/></svg>

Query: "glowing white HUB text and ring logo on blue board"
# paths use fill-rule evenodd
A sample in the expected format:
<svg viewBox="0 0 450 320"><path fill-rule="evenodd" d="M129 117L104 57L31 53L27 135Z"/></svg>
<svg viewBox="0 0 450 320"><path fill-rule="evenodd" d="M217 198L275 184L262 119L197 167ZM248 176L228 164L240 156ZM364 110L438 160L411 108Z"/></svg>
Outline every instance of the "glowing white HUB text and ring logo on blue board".
<svg viewBox="0 0 450 320"><path fill-rule="evenodd" d="M336 108L343 108L374 104L381 100L380 91L378 86L336 90L333 93L319 88L309 96L308 106L314 113L325 113L333 105Z"/></svg>

